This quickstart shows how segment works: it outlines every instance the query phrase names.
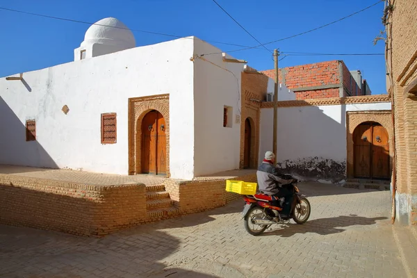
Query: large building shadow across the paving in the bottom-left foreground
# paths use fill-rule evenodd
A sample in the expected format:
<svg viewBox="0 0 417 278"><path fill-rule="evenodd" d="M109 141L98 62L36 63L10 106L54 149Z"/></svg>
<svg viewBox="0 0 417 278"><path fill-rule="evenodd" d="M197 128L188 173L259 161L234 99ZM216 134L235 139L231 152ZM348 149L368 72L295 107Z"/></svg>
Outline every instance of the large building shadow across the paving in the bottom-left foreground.
<svg viewBox="0 0 417 278"><path fill-rule="evenodd" d="M180 240L164 231L81 238L0 225L5 277L217 277L160 262L179 248Z"/></svg>

